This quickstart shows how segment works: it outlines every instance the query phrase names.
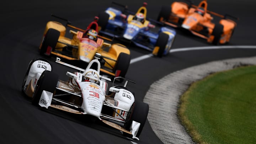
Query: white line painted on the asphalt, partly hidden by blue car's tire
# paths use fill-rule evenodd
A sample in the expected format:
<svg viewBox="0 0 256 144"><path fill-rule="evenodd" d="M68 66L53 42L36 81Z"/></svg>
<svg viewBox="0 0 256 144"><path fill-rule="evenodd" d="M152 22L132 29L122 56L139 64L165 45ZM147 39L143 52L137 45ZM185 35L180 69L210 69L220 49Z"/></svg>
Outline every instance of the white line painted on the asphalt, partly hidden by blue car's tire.
<svg viewBox="0 0 256 144"><path fill-rule="evenodd" d="M188 47L188 48L176 48L176 49L171 49L169 52L174 53L174 52L182 52L182 51L189 51L189 50L207 50L207 49L256 49L256 46L208 46L208 47ZM143 55L138 58L131 59L130 64L139 62L141 60L153 57L153 54L147 54Z"/></svg>

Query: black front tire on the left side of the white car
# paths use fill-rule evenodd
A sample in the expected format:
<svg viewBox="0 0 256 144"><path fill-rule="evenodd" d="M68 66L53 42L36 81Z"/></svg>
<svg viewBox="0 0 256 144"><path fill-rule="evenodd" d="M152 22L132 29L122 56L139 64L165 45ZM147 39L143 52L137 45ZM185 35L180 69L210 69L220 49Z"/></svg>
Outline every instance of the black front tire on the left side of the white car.
<svg viewBox="0 0 256 144"><path fill-rule="evenodd" d="M54 93L55 87L57 86L59 76L52 72L45 70L40 78L38 79L37 85L34 89L34 93L32 96L32 104L39 106L38 103L40 101L40 97L42 95L43 90Z"/></svg>

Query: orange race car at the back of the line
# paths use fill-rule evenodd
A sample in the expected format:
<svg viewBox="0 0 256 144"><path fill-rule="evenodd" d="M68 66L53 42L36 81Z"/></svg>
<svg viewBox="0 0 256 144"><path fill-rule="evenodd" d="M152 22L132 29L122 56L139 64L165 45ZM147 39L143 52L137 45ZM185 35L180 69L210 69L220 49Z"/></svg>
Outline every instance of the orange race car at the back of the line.
<svg viewBox="0 0 256 144"><path fill-rule="evenodd" d="M220 17L219 23L213 23L212 15ZM229 17L229 18L228 18ZM236 27L231 15L220 15L207 10L207 1L203 0L198 6L185 2L173 2L171 6L163 6L158 21L172 27L181 27L194 35L207 39L213 44L224 44L230 41Z"/></svg>

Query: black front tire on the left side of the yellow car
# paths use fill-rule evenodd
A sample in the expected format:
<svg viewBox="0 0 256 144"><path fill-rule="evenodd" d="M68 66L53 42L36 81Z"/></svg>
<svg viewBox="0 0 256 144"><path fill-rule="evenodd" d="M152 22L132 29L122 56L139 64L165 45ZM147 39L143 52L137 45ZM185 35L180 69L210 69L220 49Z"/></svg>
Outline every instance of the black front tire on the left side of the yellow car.
<svg viewBox="0 0 256 144"><path fill-rule="evenodd" d="M44 36L42 46L40 49L40 54L50 57L50 55L46 54L47 48L51 47L53 51L56 47L59 36L60 36L60 32L58 30L49 28L48 31L46 32L46 35Z"/></svg>

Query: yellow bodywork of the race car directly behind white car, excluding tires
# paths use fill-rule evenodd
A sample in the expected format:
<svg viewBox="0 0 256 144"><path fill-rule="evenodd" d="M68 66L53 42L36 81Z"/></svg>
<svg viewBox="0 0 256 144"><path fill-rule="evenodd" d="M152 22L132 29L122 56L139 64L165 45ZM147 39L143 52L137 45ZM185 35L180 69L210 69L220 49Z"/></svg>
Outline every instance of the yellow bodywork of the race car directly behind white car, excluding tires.
<svg viewBox="0 0 256 144"><path fill-rule="evenodd" d="M118 58L118 55L123 52L123 53L127 53L130 54L130 50L127 49L125 46L123 46L122 44L109 44L109 43L105 43L104 40L102 38L97 38L97 41L93 41L89 38L83 38L83 32L81 31L71 31L70 33L73 34L73 38L67 38L65 37L65 33L66 33L66 28L65 26L63 26L61 23L59 22L55 22L55 21L49 21L46 25L46 29L44 30L44 34L43 34L43 38L45 36L45 34L47 33L47 31L49 30L49 28L53 28L55 30L60 31L60 36L58 39L58 43L55 47L55 51L52 51L51 54L57 55L58 57L62 57L68 60L83 60L87 63L89 63L92 59L94 59L95 53L100 53L103 57L107 57L109 59L105 60L107 61L107 63L105 63L105 66L107 66L108 68L113 68L114 65L116 64L116 60ZM58 53L58 52L62 52L63 47L66 47L67 44L72 45L72 46L76 46L77 48L71 48L72 51L72 56L73 57L69 57L67 55ZM42 43L39 47L39 49L41 49ZM108 51L105 51L105 48L109 48ZM83 58L83 59L81 59ZM86 61L86 60L88 61ZM112 60L111 60L112 59ZM114 75L113 73L110 73L106 70L101 69L103 72Z"/></svg>

